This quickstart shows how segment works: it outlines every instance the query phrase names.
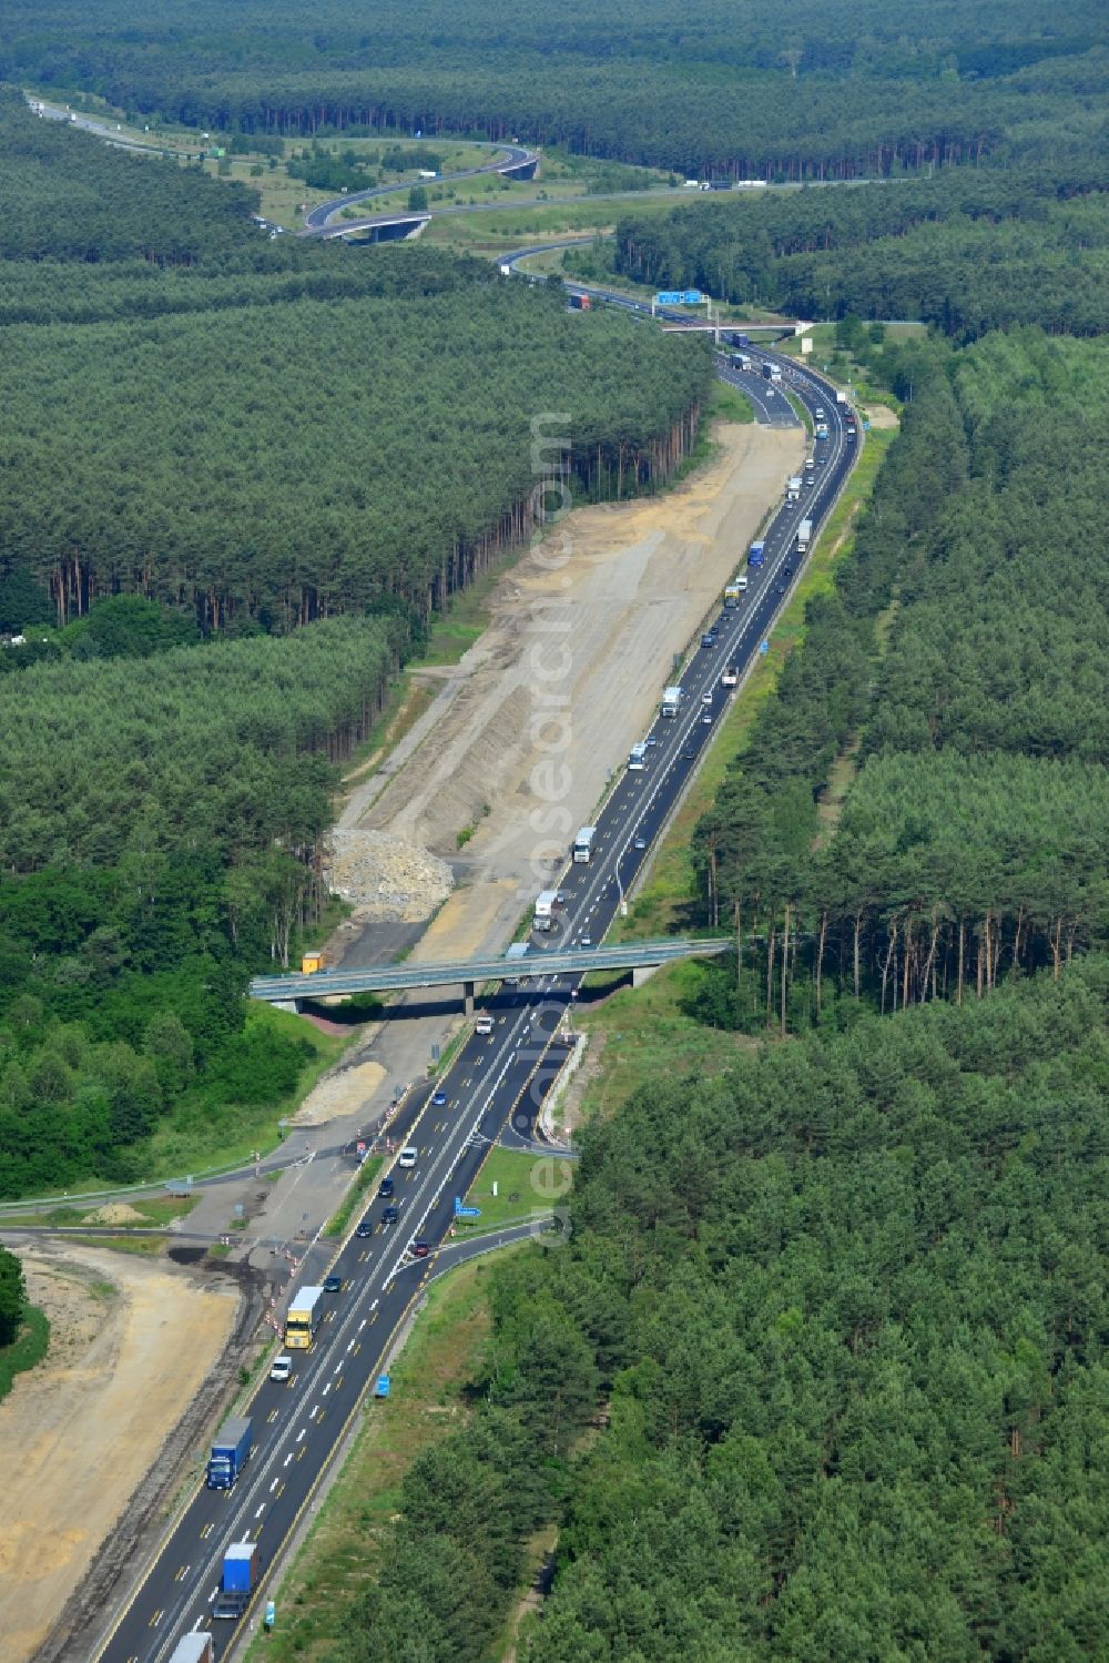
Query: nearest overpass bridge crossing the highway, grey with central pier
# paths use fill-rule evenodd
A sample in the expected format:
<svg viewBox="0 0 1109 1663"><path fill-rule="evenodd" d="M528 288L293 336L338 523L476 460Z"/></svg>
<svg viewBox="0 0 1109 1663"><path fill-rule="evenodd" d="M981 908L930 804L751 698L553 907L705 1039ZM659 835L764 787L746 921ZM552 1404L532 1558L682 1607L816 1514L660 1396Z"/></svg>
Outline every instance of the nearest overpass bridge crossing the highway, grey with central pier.
<svg viewBox="0 0 1109 1663"><path fill-rule="evenodd" d="M622 941L617 946L579 946L564 953L525 953L512 958L461 958L427 965L381 965L362 970L318 970L286 976L254 976L253 999L264 999L283 1009L299 1009L303 999L328 999L346 993L409 993L414 988L461 986L466 1014L474 1011L474 989L482 981L505 981L509 976L584 976L590 970L652 971L682 958L727 953L728 938L693 941L675 936L668 941Z"/></svg>

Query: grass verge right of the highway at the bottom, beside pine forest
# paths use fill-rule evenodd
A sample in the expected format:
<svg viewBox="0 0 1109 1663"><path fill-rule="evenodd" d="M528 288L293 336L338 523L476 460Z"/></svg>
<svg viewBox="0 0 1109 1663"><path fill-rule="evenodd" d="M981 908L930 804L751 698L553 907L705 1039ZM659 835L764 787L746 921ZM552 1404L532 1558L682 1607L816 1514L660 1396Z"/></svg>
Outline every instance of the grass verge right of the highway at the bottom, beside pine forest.
<svg viewBox="0 0 1109 1663"><path fill-rule="evenodd" d="M319 1660L341 1638L401 1503L404 1475L472 1414L466 1389L489 1335L489 1264L477 1261L427 1289L427 1304L391 1370L392 1395L367 1404L354 1448L284 1582L278 1628L269 1640L254 1640L249 1663Z"/></svg>

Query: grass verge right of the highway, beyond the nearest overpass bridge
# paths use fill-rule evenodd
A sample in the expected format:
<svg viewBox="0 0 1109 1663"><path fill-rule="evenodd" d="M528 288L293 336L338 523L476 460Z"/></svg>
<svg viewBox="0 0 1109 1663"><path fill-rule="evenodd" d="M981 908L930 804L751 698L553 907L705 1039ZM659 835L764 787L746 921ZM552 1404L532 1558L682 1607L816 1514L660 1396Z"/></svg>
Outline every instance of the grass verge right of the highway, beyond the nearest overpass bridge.
<svg viewBox="0 0 1109 1663"><path fill-rule="evenodd" d="M828 524L821 529L788 605L770 632L770 652L765 657L760 655L752 665L690 792L670 822L643 888L628 906L628 916L614 923L612 941L655 940L685 930L693 921L690 915L697 900L697 875L692 860L693 828L715 802L728 768L743 752L755 717L778 685L781 665L793 647L803 640L805 607L813 595L826 594L831 587L833 569L851 547L851 522L875 487L878 469L893 437L893 429L875 429L868 434L858 466Z"/></svg>

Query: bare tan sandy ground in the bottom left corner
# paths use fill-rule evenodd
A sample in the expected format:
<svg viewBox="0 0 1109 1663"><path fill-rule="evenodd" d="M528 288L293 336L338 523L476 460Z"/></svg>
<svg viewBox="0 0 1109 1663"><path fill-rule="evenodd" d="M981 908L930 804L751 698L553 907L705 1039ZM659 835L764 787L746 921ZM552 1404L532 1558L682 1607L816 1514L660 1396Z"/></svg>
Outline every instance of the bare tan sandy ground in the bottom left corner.
<svg viewBox="0 0 1109 1663"><path fill-rule="evenodd" d="M233 1292L123 1254L67 1244L22 1257L50 1350L0 1405L7 1663L47 1636L236 1314Z"/></svg>

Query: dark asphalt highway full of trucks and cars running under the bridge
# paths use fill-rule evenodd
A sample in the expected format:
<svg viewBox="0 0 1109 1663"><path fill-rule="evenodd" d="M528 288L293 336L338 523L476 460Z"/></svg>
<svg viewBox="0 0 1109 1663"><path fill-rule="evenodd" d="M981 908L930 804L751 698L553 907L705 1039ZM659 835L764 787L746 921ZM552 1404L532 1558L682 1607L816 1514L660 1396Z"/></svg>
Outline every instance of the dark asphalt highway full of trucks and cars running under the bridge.
<svg viewBox="0 0 1109 1663"><path fill-rule="evenodd" d="M748 351L757 368L768 358L760 349ZM783 386L790 386L810 411L818 406L825 411L830 436L815 446L815 484L803 487L800 502L783 502L773 514L763 532L765 565L760 570L747 570L747 549L737 545L735 567L747 570L750 585L745 600L718 610L713 644L690 652L680 672L685 690L680 713L658 715L643 735L643 767L617 770L607 800L594 815L592 858L569 863L560 876L552 876L552 888L562 891L564 903L555 928L534 935L530 953L519 965L529 980L507 999L495 1001L490 1036L471 1031L447 1074L434 1088L412 1089L399 1108L391 1133L419 1147L414 1171L392 1172L399 1224L384 1227L384 1202L374 1199L362 1209L372 1224L369 1237L354 1234L361 1217L356 1211L351 1234L333 1264L324 1247L309 1254L298 1285L321 1281L323 1269L334 1269L343 1277L343 1290L328 1295L328 1314L313 1350L294 1354L288 1385L261 1382L248 1405L256 1443L243 1477L231 1492L198 1488L188 1498L153 1550L118 1620L90 1635L90 1656L96 1663L165 1663L183 1633L209 1625L216 1656L229 1651L258 1605L241 1623L213 1623L224 1548L246 1538L258 1542L263 1562L258 1598L273 1598L268 1570L311 1505L347 1427L359 1414L374 1412L369 1394L391 1337L437 1266L464 1251L449 1241L454 1199L466 1196L485 1152L505 1131L530 1142L537 1106L565 1054L565 1026L572 1021L580 983L577 975L555 973L554 965L547 970L544 955L560 955L569 946L590 950L602 941L728 708L732 688L722 682L725 665L735 665L742 675L753 662L800 574L800 521L818 524L826 517L861 444L861 434L850 441L845 409L826 382L788 359L776 363L786 378ZM745 391L753 379L758 378L747 376L740 382ZM775 397L786 402L781 391ZM765 397L763 407L768 407ZM660 693L663 682L677 680L667 665L658 667ZM434 1101L441 1093L446 1101ZM539 1161L535 1181L545 1186L535 1194L539 1212L559 1199L559 1184L550 1179L552 1162ZM557 1236L547 1239L557 1241ZM411 1254L416 1241L429 1246L427 1259Z"/></svg>

